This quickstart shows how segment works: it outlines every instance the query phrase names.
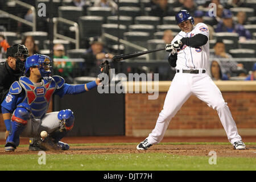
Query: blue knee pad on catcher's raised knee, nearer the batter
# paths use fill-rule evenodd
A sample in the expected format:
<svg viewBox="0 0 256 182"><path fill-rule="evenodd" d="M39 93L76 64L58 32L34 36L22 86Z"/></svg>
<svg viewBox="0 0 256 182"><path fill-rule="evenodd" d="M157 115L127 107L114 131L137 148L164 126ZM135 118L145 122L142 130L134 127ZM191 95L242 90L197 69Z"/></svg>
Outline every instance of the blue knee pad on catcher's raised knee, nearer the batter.
<svg viewBox="0 0 256 182"><path fill-rule="evenodd" d="M61 110L58 113L58 119L64 122L65 129L67 131L71 130L74 125L75 117L73 111L70 109Z"/></svg>

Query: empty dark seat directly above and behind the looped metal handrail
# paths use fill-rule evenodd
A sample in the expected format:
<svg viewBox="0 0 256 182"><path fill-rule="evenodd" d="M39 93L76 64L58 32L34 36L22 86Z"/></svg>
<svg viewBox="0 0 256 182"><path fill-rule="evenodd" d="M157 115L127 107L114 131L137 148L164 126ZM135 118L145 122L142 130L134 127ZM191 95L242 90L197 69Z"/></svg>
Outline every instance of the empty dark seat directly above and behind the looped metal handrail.
<svg viewBox="0 0 256 182"><path fill-rule="evenodd" d="M76 6L60 6L59 17L69 19L73 22L78 22L79 17L83 15L82 7Z"/></svg>

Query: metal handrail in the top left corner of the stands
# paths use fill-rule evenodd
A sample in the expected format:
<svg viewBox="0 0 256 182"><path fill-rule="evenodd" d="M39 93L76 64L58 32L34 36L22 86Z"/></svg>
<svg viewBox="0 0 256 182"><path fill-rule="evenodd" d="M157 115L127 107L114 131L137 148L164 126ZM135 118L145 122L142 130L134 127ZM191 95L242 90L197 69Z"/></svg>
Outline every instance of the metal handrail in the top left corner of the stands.
<svg viewBox="0 0 256 182"><path fill-rule="evenodd" d="M13 14L7 13L6 11L3 11L3 10L0 10L0 14L8 15L9 18L14 19L17 22L21 22L21 23L27 24L28 26L32 27L32 31L36 31L36 10L35 10L35 7L31 6L31 5L28 5L27 3L24 3L22 1L18 1L18 0L15 0L15 3L20 5L20 6L26 7L27 9L31 9L32 10L33 22L29 22L26 19L23 19L23 18L20 18L19 16L15 16Z"/></svg>

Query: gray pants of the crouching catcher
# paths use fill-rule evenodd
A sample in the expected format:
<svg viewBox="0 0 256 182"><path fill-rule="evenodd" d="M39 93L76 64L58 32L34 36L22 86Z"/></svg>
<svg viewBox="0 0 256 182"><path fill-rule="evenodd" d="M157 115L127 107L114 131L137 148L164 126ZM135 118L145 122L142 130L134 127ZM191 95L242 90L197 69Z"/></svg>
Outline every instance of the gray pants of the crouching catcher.
<svg viewBox="0 0 256 182"><path fill-rule="evenodd" d="M40 137L41 131L47 131L48 134L63 125L57 115L59 111L47 113L43 119L28 119L27 125L23 130L21 137L36 138Z"/></svg>

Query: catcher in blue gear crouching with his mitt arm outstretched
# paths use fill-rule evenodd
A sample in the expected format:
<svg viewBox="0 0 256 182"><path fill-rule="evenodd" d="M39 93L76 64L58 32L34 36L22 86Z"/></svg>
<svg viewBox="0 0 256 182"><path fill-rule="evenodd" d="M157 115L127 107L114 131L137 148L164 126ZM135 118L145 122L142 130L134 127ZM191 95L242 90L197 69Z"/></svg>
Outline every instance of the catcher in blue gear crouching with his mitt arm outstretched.
<svg viewBox="0 0 256 182"><path fill-rule="evenodd" d="M15 81L2 102L3 119L9 135L5 151L15 151L19 137L38 138L32 144L34 150L68 150L67 143L60 140L72 129L75 121L70 109L47 113L53 94L79 94L100 84L97 78L87 84L69 85L60 76L51 75L52 60L46 55L33 55L26 59L25 76ZM102 71L109 71L109 63L101 65ZM46 138L40 133L47 131Z"/></svg>

